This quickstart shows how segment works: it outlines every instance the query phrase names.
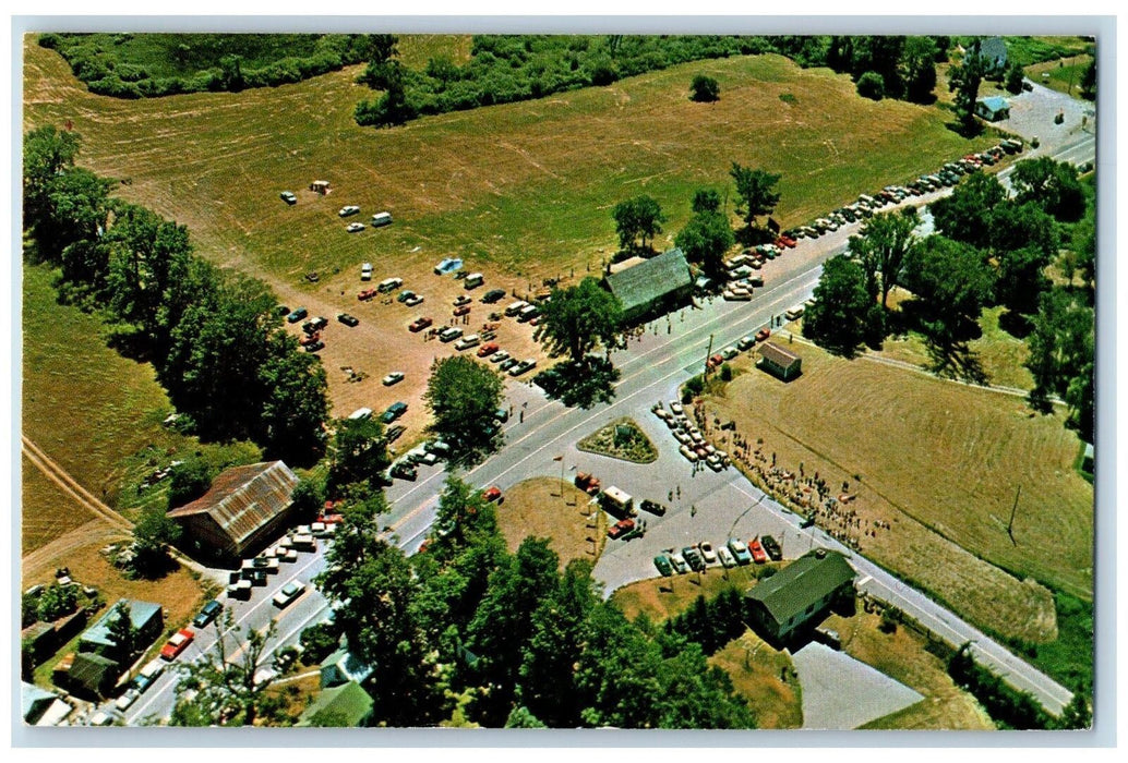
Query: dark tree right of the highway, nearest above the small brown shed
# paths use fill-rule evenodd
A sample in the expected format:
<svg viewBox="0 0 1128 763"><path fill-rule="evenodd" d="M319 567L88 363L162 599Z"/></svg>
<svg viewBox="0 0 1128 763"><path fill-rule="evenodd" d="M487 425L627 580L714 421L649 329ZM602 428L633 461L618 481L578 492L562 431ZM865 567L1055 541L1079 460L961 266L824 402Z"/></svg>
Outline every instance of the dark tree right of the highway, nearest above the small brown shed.
<svg viewBox="0 0 1128 763"><path fill-rule="evenodd" d="M828 259L803 317L803 336L835 355L852 356L865 339L873 304L865 282L862 267L849 257Z"/></svg>

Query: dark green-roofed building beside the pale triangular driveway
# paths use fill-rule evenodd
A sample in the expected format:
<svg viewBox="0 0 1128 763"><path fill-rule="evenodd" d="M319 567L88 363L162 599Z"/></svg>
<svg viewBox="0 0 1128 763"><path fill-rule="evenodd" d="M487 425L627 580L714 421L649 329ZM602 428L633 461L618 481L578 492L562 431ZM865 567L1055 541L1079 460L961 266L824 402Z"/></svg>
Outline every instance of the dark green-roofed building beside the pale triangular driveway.
<svg viewBox="0 0 1128 763"><path fill-rule="evenodd" d="M854 577L854 568L840 553L819 549L804 554L746 594L752 627L784 641L821 620L840 595L853 589Z"/></svg>

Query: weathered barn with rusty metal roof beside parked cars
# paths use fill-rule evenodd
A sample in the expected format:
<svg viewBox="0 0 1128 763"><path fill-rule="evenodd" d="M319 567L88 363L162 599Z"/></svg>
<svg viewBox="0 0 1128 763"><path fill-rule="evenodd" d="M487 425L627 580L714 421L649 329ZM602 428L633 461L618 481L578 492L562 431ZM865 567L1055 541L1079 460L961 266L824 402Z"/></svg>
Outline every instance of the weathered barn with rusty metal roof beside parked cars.
<svg viewBox="0 0 1128 763"><path fill-rule="evenodd" d="M233 467L168 516L201 553L238 559L266 545L285 525L297 485L298 477L281 461Z"/></svg>

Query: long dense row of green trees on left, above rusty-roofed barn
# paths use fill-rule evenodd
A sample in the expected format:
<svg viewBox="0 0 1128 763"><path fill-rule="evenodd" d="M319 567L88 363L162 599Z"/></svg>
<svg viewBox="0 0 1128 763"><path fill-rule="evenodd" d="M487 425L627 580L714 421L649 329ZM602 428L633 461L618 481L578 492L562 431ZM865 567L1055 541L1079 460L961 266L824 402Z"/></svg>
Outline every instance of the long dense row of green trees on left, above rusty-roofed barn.
<svg viewBox="0 0 1128 763"><path fill-rule="evenodd" d="M25 136L28 256L59 267L62 295L100 311L115 343L152 362L182 427L316 460L325 371L282 330L270 289L196 256L185 227L111 197L108 180L74 167L78 149L50 126Z"/></svg>

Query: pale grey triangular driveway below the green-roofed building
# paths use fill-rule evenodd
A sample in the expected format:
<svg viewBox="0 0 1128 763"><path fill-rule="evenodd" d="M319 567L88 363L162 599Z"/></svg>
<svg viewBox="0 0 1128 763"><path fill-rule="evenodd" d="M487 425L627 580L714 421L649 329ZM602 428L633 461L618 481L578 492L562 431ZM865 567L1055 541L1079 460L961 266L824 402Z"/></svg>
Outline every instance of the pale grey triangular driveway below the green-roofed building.
<svg viewBox="0 0 1128 763"><path fill-rule="evenodd" d="M803 728L845 731L924 699L902 683L821 644L791 657L803 687Z"/></svg>

